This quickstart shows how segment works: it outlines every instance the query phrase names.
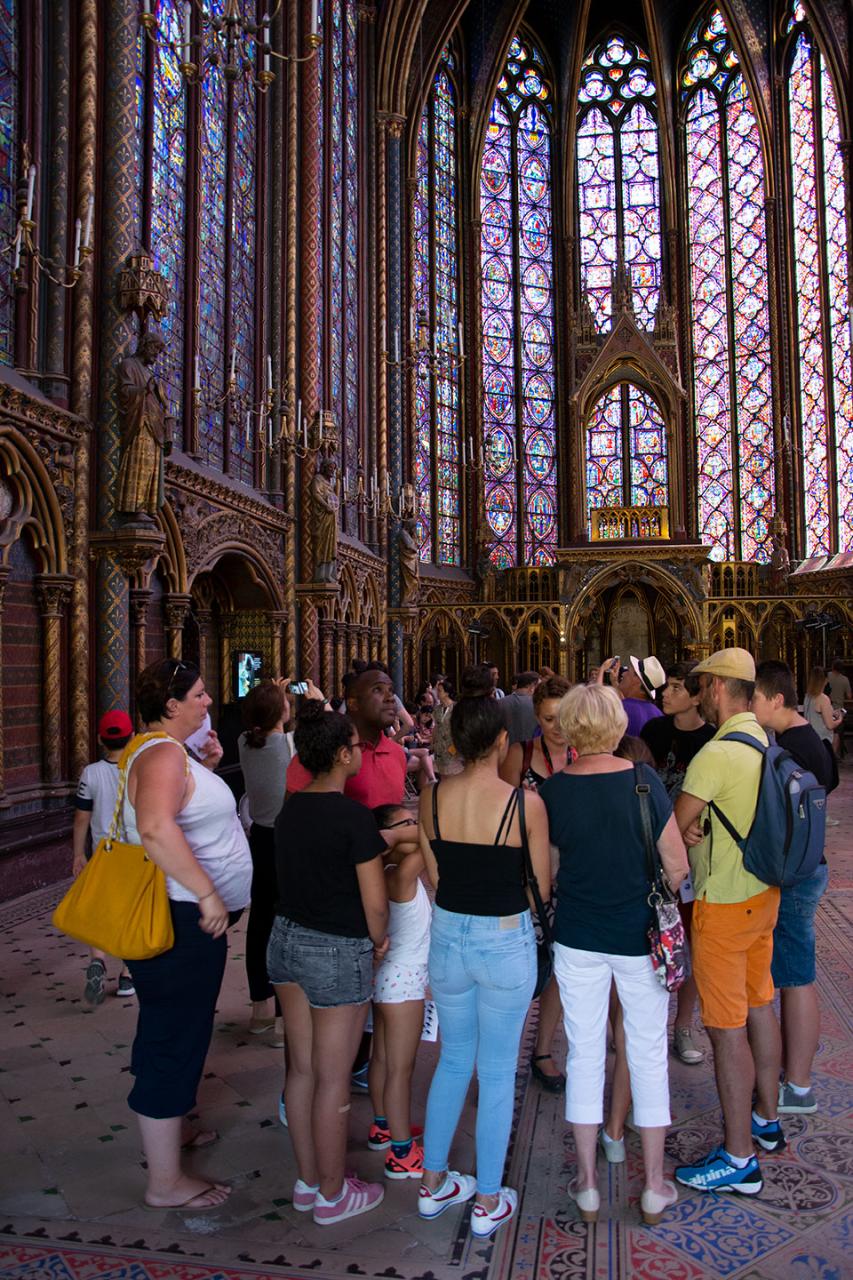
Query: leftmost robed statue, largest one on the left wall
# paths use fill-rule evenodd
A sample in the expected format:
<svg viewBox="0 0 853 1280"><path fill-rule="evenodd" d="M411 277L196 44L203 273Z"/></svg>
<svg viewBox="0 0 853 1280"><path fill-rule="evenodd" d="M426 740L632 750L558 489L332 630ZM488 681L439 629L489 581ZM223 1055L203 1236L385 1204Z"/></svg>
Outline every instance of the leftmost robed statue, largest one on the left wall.
<svg viewBox="0 0 853 1280"><path fill-rule="evenodd" d="M163 337L145 330L132 356L118 367L117 403L122 431L115 509L120 516L152 524L165 502L164 460L172 452L174 419L163 384L154 374Z"/></svg>

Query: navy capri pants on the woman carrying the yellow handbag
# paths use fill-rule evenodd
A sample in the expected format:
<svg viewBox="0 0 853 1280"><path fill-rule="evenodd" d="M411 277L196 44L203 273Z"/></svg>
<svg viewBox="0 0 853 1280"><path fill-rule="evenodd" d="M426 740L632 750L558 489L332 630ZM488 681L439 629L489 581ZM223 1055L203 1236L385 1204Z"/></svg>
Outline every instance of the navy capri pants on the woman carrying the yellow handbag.
<svg viewBox="0 0 853 1280"><path fill-rule="evenodd" d="M152 1120L184 1116L196 1105L228 954L224 933L211 938L199 928L195 902L169 905L174 946L151 960L128 961L140 1018L127 1101ZM232 913L232 924L240 914Z"/></svg>

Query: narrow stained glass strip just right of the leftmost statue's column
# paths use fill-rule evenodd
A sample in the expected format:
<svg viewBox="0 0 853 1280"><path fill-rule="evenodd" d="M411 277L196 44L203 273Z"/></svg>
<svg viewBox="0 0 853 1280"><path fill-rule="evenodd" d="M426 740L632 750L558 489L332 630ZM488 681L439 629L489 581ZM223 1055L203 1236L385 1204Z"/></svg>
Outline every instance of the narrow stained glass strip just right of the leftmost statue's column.
<svg viewBox="0 0 853 1280"><path fill-rule="evenodd" d="M151 129L151 253L169 285L169 307L160 323L167 348L158 364L175 417L182 416L183 282L186 275L187 95L181 58L183 5L160 0L160 40L149 42L154 59ZM142 33L145 40L145 35ZM173 47L174 46L174 47ZM137 111L141 109L137 91Z"/></svg>

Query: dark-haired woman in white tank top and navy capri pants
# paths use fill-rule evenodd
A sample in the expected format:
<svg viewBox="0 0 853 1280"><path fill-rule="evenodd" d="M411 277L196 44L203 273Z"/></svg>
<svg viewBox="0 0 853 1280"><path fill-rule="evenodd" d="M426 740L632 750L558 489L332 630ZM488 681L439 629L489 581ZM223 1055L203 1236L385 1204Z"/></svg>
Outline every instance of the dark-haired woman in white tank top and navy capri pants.
<svg viewBox="0 0 853 1280"><path fill-rule="evenodd" d="M204 764L183 748L210 707L197 668L175 659L146 667L136 705L156 736L127 763L124 828L165 873L174 945L129 961L140 1020L128 1103L140 1119L149 1166L146 1206L216 1208L231 1188L186 1172L181 1151L193 1144L184 1116L195 1107L210 1047L225 931L248 904L251 855L234 797L213 773L222 758L215 735ZM196 1135L195 1146L204 1146L206 1137Z"/></svg>

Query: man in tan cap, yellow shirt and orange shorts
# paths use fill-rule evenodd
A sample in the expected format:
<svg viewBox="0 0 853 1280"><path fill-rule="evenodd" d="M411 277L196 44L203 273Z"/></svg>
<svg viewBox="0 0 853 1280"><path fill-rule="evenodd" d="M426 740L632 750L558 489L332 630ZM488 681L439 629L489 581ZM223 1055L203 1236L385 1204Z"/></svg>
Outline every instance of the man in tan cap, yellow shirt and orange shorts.
<svg viewBox="0 0 853 1280"><path fill-rule="evenodd" d="M781 1037L770 972L780 891L747 870L729 828L752 828L767 735L749 710L756 664L745 649L712 653L693 675L699 678L699 710L717 732L688 765L675 818L690 855L693 973L713 1044L724 1142L675 1176L697 1190L754 1196L763 1180L753 1144L763 1151L785 1146L776 1106ZM745 735L756 746L724 741L730 733Z"/></svg>

